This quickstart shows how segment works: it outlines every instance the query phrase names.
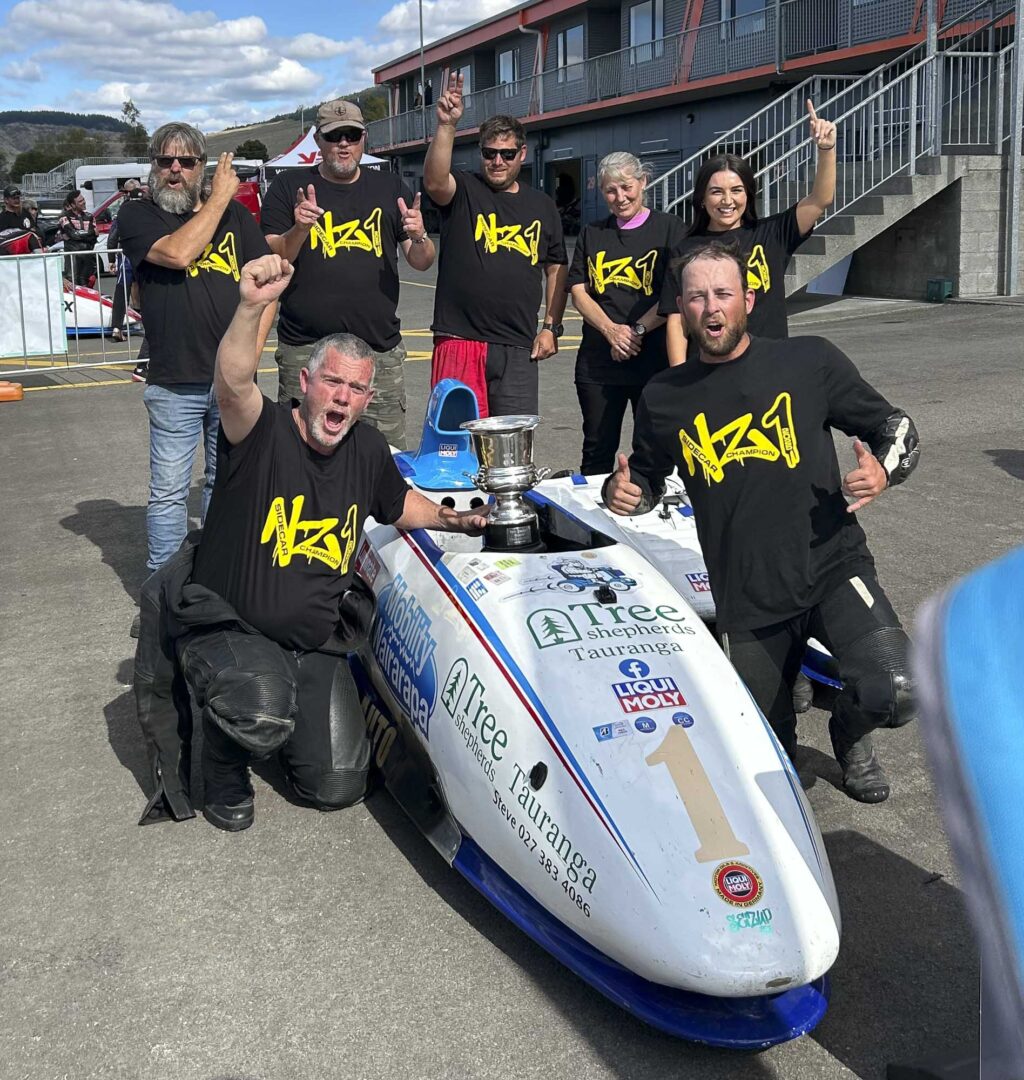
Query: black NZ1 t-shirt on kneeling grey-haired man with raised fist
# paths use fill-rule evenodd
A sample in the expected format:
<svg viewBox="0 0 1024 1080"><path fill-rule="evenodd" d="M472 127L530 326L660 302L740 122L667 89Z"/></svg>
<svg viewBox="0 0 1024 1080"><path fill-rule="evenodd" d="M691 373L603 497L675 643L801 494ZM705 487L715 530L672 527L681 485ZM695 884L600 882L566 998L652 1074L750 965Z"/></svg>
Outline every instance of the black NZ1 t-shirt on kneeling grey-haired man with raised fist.
<svg viewBox="0 0 1024 1080"><path fill-rule="evenodd" d="M285 648L319 648L338 622L367 515L398 519L406 491L374 428L356 422L334 454L318 454L292 406L265 397L241 443L219 432L192 580Z"/></svg>

